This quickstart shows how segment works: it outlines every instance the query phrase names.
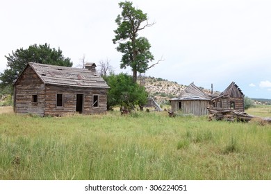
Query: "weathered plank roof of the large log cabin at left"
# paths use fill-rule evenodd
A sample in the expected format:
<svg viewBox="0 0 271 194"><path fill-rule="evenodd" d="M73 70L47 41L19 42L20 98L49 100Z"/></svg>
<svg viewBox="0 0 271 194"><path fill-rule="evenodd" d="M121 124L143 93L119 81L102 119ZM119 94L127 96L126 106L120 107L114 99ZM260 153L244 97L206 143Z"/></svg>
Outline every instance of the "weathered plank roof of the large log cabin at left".
<svg viewBox="0 0 271 194"><path fill-rule="evenodd" d="M109 88L98 73L88 69L63 67L51 64L28 62L45 84L74 87Z"/></svg>

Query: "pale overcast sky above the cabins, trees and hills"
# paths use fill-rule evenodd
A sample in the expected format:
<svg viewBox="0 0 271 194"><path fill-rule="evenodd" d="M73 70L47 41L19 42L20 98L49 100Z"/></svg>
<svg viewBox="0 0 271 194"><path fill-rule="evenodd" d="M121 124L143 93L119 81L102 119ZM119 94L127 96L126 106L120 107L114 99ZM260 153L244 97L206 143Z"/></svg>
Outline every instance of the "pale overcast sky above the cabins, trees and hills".
<svg viewBox="0 0 271 194"><path fill-rule="evenodd" d="M0 72L5 55L50 44L74 67L110 60L120 70L112 39L121 10L113 0L8 0L0 3ZM179 84L223 91L234 81L250 98L271 98L270 0L133 0L156 24L142 31L156 60L145 73Z"/></svg>

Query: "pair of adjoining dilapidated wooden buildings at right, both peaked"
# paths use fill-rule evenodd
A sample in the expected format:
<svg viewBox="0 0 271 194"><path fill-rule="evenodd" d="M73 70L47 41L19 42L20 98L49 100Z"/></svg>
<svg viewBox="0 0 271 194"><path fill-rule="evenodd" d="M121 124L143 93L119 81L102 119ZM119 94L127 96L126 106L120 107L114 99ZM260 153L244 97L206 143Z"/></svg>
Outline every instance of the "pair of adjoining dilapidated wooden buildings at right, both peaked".
<svg viewBox="0 0 271 194"><path fill-rule="evenodd" d="M207 107L222 109L236 109L244 111L244 94L235 82L219 95L213 96L204 93L193 83L184 89L179 97L170 99L173 112L181 111L183 114L208 114Z"/></svg>

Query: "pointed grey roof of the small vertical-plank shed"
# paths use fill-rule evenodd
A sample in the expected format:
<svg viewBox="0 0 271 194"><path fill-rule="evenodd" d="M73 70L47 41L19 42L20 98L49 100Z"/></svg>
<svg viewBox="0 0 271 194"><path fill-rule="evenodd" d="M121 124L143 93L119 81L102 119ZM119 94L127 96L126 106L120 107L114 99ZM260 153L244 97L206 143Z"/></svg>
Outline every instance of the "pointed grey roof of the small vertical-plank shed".
<svg viewBox="0 0 271 194"><path fill-rule="evenodd" d="M179 97L172 98L171 100L211 100L211 96L205 94L194 83L191 83L181 92Z"/></svg>

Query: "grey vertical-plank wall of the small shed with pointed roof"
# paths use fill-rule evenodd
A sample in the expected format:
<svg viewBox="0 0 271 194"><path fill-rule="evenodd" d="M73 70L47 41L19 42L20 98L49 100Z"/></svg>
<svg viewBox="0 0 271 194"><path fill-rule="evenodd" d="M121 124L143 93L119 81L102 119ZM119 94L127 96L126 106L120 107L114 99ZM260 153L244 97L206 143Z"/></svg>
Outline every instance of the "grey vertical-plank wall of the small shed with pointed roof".
<svg viewBox="0 0 271 194"><path fill-rule="evenodd" d="M181 109L179 109L181 103ZM171 102L172 111L181 111L183 114L205 115L208 114L207 106L210 104L209 100L174 100Z"/></svg>

